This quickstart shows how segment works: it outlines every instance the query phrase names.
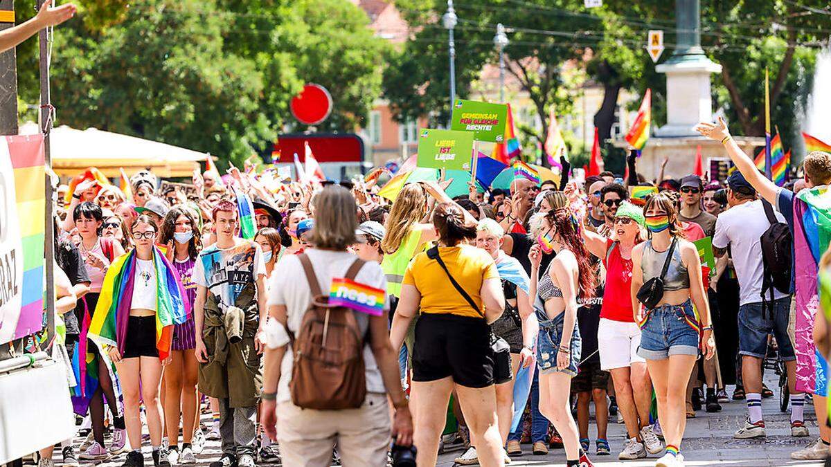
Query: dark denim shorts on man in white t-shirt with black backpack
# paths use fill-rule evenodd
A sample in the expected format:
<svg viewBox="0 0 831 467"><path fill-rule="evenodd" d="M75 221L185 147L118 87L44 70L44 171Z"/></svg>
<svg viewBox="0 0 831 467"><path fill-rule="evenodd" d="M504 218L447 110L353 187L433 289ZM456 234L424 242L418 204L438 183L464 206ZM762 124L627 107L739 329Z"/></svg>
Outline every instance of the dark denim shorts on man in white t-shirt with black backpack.
<svg viewBox="0 0 831 467"><path fill-rule="evenodd" d="M773 317L770 317L770 313ZM776 337L779 357L784 361L795 360L794 345L788 336L790 297L777 298L772 309L762 315L762 302L747 303L739 307L739 354L765 358L768 351L768 334Z"/></svg>

